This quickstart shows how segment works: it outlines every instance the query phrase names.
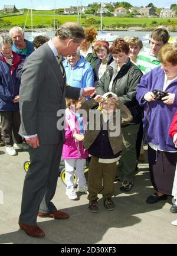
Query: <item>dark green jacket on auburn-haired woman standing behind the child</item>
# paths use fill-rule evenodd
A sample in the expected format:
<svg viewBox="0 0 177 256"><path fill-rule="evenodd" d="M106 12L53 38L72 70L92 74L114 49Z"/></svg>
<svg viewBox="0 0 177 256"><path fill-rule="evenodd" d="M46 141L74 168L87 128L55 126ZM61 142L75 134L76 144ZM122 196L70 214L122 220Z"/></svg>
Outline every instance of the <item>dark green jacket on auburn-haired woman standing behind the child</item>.
<svg viewBox="0 0 177 256"><path fill-rule="evenodd" d="M117 72L116 62L113 61L107 66L106 72L100 78L96 85L97 95L103 95L106 92L115 93L124 105L129 108L133 116L132 123L140 124L142 122L142 110L136 101L136 87L140 82L143 73L130 61L124 64ZM113 78L112 86L110 82Z"/></svg>

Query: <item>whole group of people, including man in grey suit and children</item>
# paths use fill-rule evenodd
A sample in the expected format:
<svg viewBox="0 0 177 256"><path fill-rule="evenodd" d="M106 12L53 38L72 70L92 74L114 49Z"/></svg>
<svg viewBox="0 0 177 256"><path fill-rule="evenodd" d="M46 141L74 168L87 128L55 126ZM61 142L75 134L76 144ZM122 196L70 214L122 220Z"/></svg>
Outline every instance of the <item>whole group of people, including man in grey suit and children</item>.
<svg viewBox="0 0 177 256"><path fill-rule="evenodd" d="M177 213L177 47L165 27L152 31L143 50L138 37L110 45L96 35L93 27L67 22L51 39L28 41L20 27L0 36L0 146L9 155L29 151L19 226L31 236L45 235L37 216L69 217L51 202L61 157L68 198L88 194L95 213L101 192L113 210L113 183L132 189L143 143L155 189L146 203L171 196Z"/></svg>

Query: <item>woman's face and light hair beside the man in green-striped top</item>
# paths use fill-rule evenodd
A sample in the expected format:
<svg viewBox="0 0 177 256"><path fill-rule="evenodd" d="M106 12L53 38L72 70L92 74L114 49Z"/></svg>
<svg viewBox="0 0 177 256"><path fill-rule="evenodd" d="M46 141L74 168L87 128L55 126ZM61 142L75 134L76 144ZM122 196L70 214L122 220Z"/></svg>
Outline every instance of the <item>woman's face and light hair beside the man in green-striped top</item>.
<svg viewBox="0 0 177 256"><path fill-rule="evenodd" d="M130 60L136 64L137 55L139 54L140 50L143 48L142 40L139 37L124 37L124 41L129 43L130 51L129 57Z"/></svg>

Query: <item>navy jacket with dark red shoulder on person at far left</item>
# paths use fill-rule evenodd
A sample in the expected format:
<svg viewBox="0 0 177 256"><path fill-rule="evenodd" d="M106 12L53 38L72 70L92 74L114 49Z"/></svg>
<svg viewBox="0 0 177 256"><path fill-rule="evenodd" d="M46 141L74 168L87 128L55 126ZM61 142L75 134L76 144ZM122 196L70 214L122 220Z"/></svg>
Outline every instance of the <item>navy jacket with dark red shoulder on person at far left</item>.
<svg viewBox="0 0 177 256"><path fill-rule="evenodd" d="M6 63L0 53L0 111L15 111L19 104L12 102L19 95L20 80L17 78L18 65L22 59L17 53L12 52L12 66Z"/></svg>

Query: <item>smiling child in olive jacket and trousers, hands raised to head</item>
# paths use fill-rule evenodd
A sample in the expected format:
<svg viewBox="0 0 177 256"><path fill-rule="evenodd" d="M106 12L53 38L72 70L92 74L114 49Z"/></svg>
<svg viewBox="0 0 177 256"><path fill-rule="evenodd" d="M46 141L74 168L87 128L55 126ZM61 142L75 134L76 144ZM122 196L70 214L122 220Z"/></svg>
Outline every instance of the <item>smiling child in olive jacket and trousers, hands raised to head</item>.
<svg viewBox="0 0 177 256"><path fill-rule="evenodd" d="M114 93L108 92L103 96L97 95L96 98L90 100L90 103L91 101L100 102L100 107L99 110L93 111L94 113L97 112L96 117L89 119L83 146L91 155L88 181L89 209L91 212L98 212L97 199L99 198L97 195L102 190L102 185L104 207L107 210L114 209L114 203L111 199L114 192L113 182L116 176L116 162L122 151L120 125L130 122L132 115ZM90 103L85 102L83 108L84 105Z"/></svg>

